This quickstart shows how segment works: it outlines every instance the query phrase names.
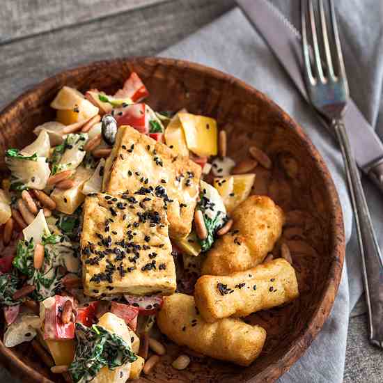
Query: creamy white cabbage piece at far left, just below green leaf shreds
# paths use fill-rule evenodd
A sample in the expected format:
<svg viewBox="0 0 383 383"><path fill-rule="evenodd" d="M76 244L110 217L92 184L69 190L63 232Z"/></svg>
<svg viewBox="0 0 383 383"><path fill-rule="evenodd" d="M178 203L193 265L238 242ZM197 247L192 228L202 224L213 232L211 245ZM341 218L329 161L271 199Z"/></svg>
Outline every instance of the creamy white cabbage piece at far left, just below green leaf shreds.
<svg viewBox="0 0 383 383"><path fill-rule="evenodd" d="M22 159L20 157L6 157L6 164L12 174L12 185L30 187L42 190L47 185L51 170L45 157Z"/></svg>

